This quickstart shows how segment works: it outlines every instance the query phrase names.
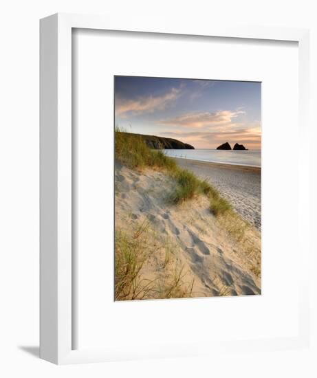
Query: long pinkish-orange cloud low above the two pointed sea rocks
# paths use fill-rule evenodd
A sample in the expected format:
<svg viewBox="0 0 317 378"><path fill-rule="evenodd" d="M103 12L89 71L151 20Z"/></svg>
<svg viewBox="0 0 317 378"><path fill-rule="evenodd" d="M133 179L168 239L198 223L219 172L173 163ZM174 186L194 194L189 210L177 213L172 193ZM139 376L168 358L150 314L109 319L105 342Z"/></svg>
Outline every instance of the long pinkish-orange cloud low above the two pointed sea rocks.
<svg viewBox="0 0 317 378"><path fill-rule="evenodd" d="M194 128L202 128L208 126L221 126L225 124L231 124L234 118L237 118L238 115L245 114L243 110L224 110L224 111L215 111L210 113L206 112L193 112L179 115L175 118L169 118L168 120L161 120L161 124L167 126L186 126Z"/></svg>

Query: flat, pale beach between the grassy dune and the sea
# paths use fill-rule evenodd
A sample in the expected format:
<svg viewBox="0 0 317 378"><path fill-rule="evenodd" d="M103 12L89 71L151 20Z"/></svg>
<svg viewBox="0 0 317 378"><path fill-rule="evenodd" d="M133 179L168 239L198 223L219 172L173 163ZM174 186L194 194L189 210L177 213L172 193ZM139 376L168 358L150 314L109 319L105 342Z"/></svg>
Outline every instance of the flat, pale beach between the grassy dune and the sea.
<svg viewBox="0 0 317 378"><path fill-rule="evenodd" d="M245 221L261 230L261 168L173 159L178 166L207 179Z"/></svg>

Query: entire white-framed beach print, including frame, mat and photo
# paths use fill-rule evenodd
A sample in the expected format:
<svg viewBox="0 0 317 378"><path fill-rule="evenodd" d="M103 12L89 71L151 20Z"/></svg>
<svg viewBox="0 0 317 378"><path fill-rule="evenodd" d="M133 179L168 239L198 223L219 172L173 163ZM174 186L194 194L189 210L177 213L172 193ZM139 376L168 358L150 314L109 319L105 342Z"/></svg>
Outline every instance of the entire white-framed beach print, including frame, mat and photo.
<svg viewBox="0 0 317 378"><path fill-rule="evenodd" d="M41 20L43 359L307 345L307 33Z"/></svg>

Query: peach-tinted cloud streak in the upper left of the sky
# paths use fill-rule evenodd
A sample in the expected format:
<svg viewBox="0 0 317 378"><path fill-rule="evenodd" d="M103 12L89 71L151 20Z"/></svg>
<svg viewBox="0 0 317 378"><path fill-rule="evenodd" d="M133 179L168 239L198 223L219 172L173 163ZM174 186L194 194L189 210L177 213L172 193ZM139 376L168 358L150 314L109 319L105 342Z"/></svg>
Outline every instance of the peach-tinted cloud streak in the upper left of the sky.
<svg viewBox="0 0 317 378"><path fill-rule="evenodd" d="M164 110L169 104L179 98L181 93L181 88L172 88L162 96L146 96L134 100L116 98L116 115L120 115L124 118L124 116L127 115Z"/></svg>

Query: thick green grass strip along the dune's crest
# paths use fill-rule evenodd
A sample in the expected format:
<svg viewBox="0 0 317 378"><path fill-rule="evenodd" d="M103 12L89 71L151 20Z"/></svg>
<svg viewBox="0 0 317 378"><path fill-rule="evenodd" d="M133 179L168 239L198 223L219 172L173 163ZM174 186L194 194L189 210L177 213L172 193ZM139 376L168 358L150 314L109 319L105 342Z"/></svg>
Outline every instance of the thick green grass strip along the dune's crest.
<svg viewBox="0 0 317 378"><path fill-rule="evenodd" d="M166 170L175 182L170 195L171 202L175 204L205 194L210 199L210 212L215 216L230 210L228 201L220 197L219 192L208 181L199 179L189 170L179 168L175 160L164 155L162 151L151 150L140 135L124 133L116 128L115 155L116 159L129 168L149 167Z"/></svg>

